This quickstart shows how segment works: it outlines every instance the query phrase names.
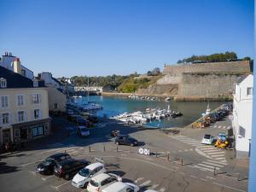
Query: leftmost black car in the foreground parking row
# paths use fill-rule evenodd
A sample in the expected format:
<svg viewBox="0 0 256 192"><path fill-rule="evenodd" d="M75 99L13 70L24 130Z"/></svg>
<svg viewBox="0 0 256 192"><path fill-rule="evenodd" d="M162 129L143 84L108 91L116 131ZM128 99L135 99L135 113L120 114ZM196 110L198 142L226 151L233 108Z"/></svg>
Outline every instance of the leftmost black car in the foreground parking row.
<svg viewBox="0 0 256 192"><path fill-rule="evenodd" d="M71 159L71 156L66 153L50 155L43 162L39 163L39 165L37 166L37 172L44 175L51 174L53 173L54 167L58 162L61 162L62 160L69 160L69 159Z"/></svg>

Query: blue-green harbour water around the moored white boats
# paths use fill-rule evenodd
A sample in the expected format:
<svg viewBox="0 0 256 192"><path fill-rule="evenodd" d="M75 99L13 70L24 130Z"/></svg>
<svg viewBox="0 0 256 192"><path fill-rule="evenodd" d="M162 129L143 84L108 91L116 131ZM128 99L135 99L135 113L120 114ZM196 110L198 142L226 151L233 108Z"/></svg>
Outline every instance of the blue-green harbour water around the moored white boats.
<svg viewBox="0 0 256 192"><path fill-rule="evenodd" d="M183 113L182 117L173 119L168 117L166 119L154 120L148 122L146 125L152 127L183 127L191 124L196 119L201 118L201 113L205 113L207 109L207 102L174 102L174 101L140 101L129 100L126 97L120 96L82 96L76 98L75 102L78 104L90 102L97 102L102 105L102 110L96 110L94 113L100 117L112 117L119 113L145 112L146 108L168 108L171 110ZM209 102L209 107L213 110L218 108L224 102Z"/></svg>

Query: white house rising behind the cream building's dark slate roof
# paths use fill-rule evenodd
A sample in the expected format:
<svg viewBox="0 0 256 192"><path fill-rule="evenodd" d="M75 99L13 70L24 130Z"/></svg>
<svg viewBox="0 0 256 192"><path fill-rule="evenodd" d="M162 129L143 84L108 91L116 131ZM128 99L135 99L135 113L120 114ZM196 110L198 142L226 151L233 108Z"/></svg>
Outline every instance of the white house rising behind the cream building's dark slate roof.
<svg viewBox="0 0 256 192"><path fill-rule="evenodd" d="M15 61L20 62L20 58L15 57L11 53L5 52L5 54L2 57L0 57L0 66L15 72ZM34 78L34 73L21 64L20 64L20 71L21 71L21 75L23 75L24 77L28 79Z"/></svg>

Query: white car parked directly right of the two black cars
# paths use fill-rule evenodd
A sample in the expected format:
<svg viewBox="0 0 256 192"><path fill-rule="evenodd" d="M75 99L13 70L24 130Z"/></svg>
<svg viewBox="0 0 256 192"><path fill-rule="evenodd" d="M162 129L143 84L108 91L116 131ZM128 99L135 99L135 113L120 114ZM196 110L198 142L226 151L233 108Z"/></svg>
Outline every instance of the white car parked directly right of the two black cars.
<svg viewBox="0 0 256 192"><path fill-rule="evenodd" d="M102 172L107 172L102 163L93 163L81 169L72 180L72 185L76 188L84 188L90 182L90 178Z"/></svg>

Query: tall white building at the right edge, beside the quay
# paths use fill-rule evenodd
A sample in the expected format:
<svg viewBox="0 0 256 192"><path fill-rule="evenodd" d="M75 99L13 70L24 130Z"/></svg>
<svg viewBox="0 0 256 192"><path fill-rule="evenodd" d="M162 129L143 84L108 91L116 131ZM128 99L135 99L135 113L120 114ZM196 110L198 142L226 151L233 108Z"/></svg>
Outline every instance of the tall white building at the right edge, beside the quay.
<svg viewBox="0 0 256 192"><path fill-rule="evenodd" d="M252 138L253 75L248 74L235 84L233 131L236 137L236 158L247 158Z"/></svg>

